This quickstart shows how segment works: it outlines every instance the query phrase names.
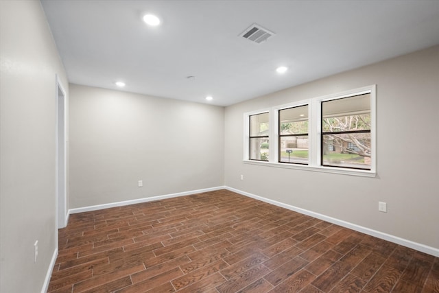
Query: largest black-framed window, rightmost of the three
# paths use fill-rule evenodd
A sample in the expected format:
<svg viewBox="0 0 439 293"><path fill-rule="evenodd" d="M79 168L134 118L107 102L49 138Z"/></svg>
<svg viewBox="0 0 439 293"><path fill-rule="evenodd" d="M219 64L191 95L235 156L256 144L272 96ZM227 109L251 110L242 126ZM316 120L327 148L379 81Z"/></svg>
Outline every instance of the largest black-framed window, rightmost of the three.
<svg viewBox="0 0 439 293"><path fill-rule="evenodd" d="M370 169L370 93L322 102L323 166Z"/></svg>

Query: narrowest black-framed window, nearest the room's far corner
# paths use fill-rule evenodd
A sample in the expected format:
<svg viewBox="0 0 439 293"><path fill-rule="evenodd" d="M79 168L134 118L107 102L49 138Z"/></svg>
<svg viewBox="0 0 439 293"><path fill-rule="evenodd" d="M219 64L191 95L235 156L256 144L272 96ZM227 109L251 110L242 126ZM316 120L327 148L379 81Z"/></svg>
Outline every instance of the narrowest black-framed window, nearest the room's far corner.
<svg viewBox="0 0 439 293"><path fill-rule="evenodd" d="M268 161L269 154L269 113L249 116L249 159Z"/></svg>

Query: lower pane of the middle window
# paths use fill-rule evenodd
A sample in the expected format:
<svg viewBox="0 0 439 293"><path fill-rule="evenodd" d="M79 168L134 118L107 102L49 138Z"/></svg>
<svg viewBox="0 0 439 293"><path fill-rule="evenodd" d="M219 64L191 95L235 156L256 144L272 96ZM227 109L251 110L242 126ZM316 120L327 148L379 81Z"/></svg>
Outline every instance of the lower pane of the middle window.
<svg viewBox="0 0 439 293"><path fill-rule="evenodd" d="M308 136L281 137L279 162L307 164Z"/></svg>

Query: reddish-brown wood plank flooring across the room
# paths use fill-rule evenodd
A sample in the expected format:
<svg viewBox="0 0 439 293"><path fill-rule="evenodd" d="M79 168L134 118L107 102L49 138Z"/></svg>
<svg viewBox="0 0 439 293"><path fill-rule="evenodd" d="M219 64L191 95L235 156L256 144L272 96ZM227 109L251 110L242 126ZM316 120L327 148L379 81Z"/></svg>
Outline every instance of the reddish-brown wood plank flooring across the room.
<svg viewBox="0 0 439 293"><path fill-rule="evenodd" d="M48 292L439 292L439 259L219 190L71 215Z"/></svg>

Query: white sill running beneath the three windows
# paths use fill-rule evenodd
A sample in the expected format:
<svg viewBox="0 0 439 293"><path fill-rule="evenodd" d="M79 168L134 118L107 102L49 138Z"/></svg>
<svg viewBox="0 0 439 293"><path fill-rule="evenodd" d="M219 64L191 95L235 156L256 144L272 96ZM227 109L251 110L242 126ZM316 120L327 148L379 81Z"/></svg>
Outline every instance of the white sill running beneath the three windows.
<svg viewBox="0 0 439 293"><path fill-rule="evenodd" d="M288 163L274 163L274 162L265 162L265 161L252 161L252 160L244 160L244 164L249 165L259 165L265 167L276 167L276 168L284 168L284 169L297 169L311 172L323 172L323 173L332 173L332 174L343 174L343 175L351 175L351 176L362 176L362 177L375 177L377 176L376 172L371 170L361 170L361 169L342 169L336 167L324 167L324 166L310 166L310 165L295 165Z"/></svg>

